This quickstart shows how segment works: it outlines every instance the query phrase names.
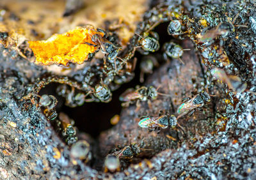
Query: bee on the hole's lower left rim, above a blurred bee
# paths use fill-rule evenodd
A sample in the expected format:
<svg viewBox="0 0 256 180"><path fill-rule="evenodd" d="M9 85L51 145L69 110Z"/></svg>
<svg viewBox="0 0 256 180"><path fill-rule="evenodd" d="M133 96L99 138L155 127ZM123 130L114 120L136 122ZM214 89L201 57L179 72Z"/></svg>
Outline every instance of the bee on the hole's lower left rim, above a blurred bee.
<svg viewBox="0 0 256 180"><path fill-rule="evenodd" d="M63 112L60 112L59 119L57 126L59 127L61 137L63 137L68 146L71 146L77 142L74 121L70 121L70 118Z"/></svg>

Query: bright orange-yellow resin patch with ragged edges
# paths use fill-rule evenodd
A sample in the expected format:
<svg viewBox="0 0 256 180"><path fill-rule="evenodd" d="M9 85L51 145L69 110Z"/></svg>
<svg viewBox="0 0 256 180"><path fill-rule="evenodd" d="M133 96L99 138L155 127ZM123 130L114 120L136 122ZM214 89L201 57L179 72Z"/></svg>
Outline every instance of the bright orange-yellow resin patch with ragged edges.
<svg viewBox="0 0 256 180"><path fill-rule="evenodd" d="M88 59L88 54L97 50L97 47L84 43L95 44L90 35L96 32L89 31L90 29L76 27L65 34L54 34L45 41L28 41L29 47L36 57L35 63L43 65L62 64L64 66L67 66L69 62L82 64ZM102 33L100 34L103 36Z"/></svg>

